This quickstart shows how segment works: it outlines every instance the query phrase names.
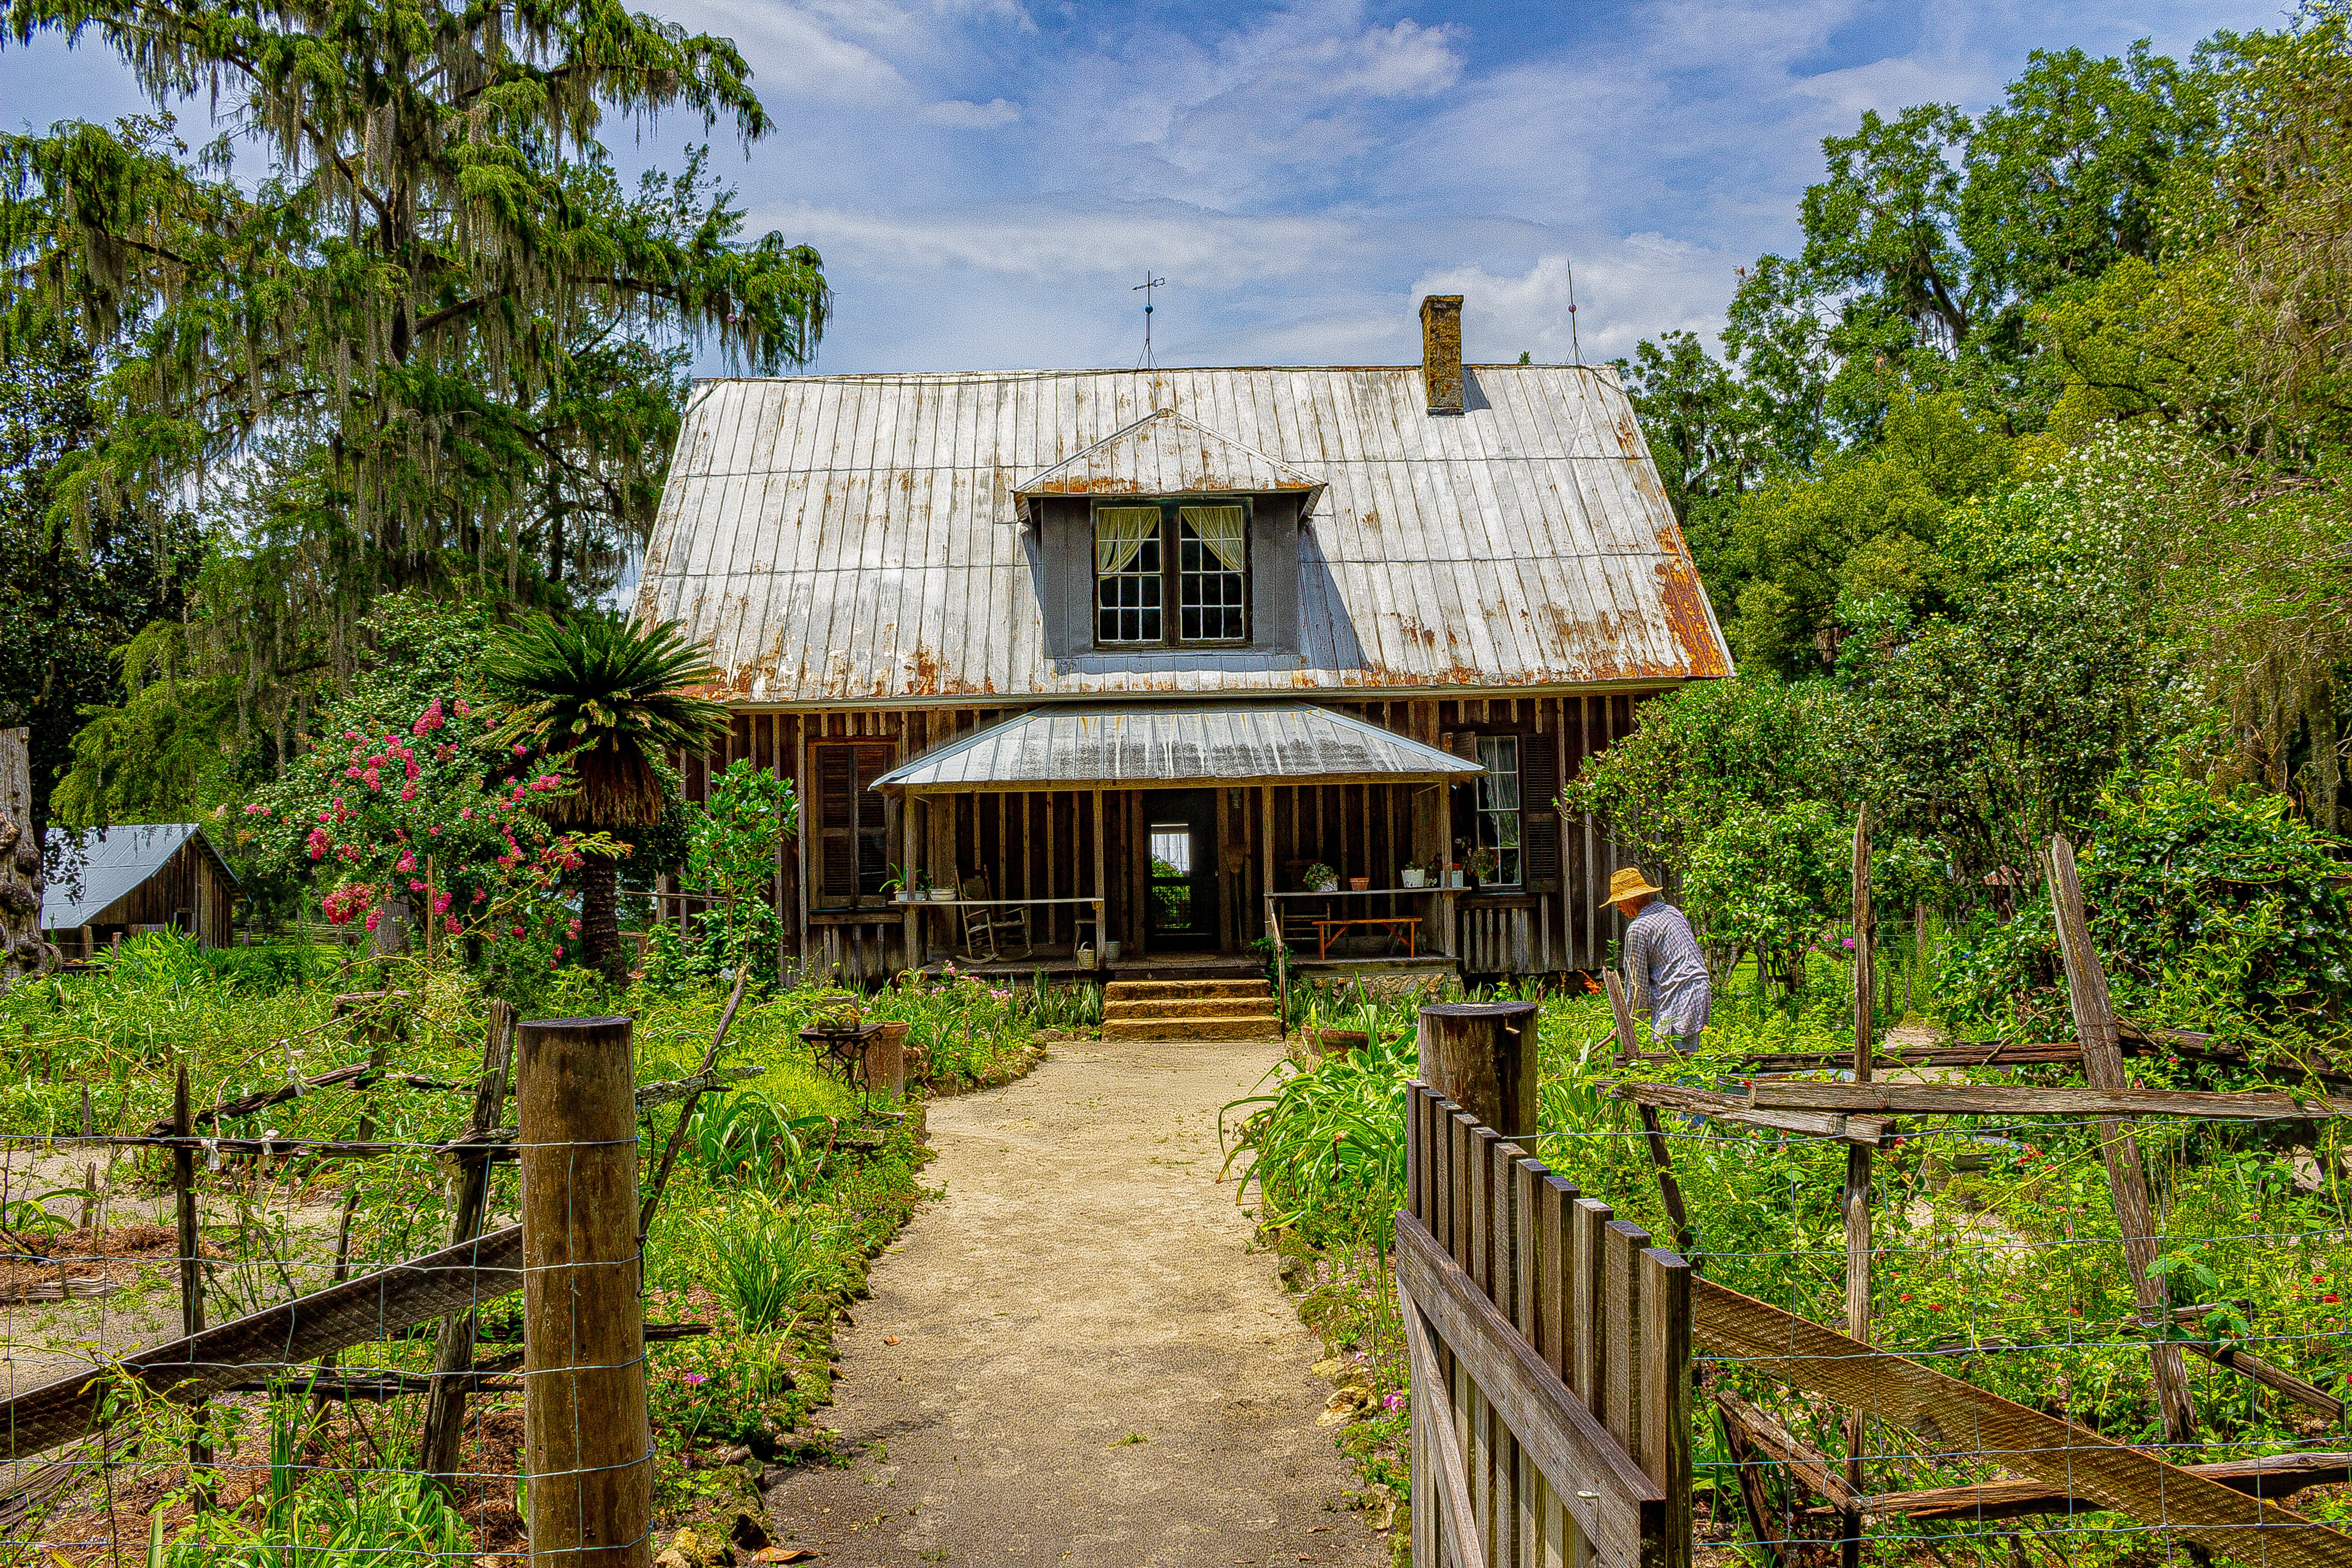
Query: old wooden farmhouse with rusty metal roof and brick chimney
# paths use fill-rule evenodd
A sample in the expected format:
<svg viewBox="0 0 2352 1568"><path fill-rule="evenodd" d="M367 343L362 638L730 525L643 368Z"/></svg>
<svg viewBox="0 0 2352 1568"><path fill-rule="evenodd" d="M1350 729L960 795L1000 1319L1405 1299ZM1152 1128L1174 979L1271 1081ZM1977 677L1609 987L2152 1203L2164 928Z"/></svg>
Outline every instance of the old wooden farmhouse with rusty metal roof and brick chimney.
<svg viewBox="0 0 2352 1568"><path fill-rule="evenodd" d="M1616 376L1463 364L1458 296L1421 329L1418 367L699 383L637 614L734 710L689 795L800 788L788 950L1604 964L1616 856L1559 783L1731 658Z"/></svg>

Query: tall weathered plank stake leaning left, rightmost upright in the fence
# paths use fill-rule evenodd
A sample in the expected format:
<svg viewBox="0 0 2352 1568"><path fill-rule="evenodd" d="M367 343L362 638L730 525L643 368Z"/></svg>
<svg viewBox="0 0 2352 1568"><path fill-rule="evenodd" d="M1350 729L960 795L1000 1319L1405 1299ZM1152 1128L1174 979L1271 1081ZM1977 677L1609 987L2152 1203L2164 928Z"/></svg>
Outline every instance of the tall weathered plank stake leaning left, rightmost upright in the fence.
<svg viewBox="0 0 2352 1568"><path fill-rule="evenodd" d="M2065 957L2065 992L2082 1037L2082 1074L2091 1088L2129 1088L2124 1051L2117 1044L2114 1001L2107 997L2107 971L2091 947L2091 924L2082 912L2082 882L2074 875L2074 846L2051 837L2051 905L2058 912L2058 952ZM2150 1276L2157 1260L2157 1222L2147 1206L2147 1180L2140 1175L2140 1145L2131 1121L2100 1117L2100 1154L2107 1161L2107 1187L2114 1192L2114 1220L2124 1232L2124 1265L2140 1302L2140 1316L2159 1326L2169 1307L2161 1276ZM2161 1328L2157 1328L2161 1333ZM2180 1347L2157 1340L2147 1347L2157 1373L2157 1401L2164 1406L2164 1434L2171 1443L2197 1441L2197 1408L2190 1403L2187 1371Z"/></svg>

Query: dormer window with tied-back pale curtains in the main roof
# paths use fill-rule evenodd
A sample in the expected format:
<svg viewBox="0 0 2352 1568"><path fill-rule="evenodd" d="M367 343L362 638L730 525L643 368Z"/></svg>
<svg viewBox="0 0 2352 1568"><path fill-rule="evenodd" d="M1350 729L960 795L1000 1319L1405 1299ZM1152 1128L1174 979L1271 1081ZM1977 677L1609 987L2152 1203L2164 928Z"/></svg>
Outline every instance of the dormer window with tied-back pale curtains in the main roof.
<svg viewBox="0 0 2352 1568"><path fill-rule="evenodd" d="M1094 508L1094 642L1249 642L1249 501Z"/></svg>

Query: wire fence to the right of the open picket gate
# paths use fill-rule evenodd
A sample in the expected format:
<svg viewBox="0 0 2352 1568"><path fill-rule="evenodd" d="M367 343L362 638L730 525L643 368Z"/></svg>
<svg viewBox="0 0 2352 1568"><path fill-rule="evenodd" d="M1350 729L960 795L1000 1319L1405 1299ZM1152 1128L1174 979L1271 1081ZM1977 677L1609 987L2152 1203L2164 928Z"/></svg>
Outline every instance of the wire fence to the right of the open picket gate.
<svg viewBox="0 0 2352 1568"><path fill-rule="evenodd" d="M2352 1514L2352 1192L2336 1133L2326 1119L2164 1117L2136 1133L2070 1114L1915 1121L1863 1161L1858 1260L1842 1213L1853 1145L1839 1138L1675 1112L1651 1131L1625 1105L1529 1147L1658 1246L1677 1241L1668 1171L1708 1286L1785 1316L1733 1347L1710 1338L1700 1295L1700 1542L1785 1566L2154 1561L2220 1528L2256 1533L2241 1561L2352 1561L2340 1535L2305 1556L2319 1537L2286 1512ZM2136 1298L2110 1135L2147 1159L2161 1312ZM1846 1335L1856 1267L1867 1345ZM1792 1324L1835 1342L1806 1345ZM2166 1359L2185 1368L2185 1420L2164 1408ZM1971 1389L2006 1406L1999 1420ZM2100 1474L2107 1448L2169 1469L2119 1483ZM2216 1486L2263 1507L2216 1523Z"/></svg>

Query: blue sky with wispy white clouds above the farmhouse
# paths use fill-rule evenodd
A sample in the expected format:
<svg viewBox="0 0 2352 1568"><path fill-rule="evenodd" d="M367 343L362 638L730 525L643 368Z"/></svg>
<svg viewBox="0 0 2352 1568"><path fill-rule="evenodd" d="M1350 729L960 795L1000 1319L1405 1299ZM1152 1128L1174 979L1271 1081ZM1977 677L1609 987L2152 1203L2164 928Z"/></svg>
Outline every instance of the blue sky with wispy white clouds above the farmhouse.
<svg viewBox="0 0 2352 1568"><path fill-rule="evenodd" d="M816 369L1397 364L1468 296L1472 360L1712 331L1797 242L1820 139L1980 108L2030 49L2185 54L2279 0L2082 5L1056 5L659 0L734 38L776 134L715 141L753 230L816 244ZM92 40L94 42L94 40ZM139 108L99 47L0 49L9 125ZM202 120L202 106L183 108ZM699 122L607 127L623 165ZM706 369L717 369L708 364Z"/></svg>

